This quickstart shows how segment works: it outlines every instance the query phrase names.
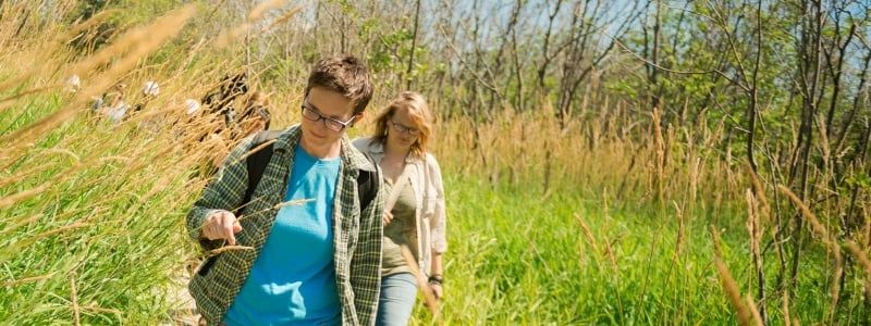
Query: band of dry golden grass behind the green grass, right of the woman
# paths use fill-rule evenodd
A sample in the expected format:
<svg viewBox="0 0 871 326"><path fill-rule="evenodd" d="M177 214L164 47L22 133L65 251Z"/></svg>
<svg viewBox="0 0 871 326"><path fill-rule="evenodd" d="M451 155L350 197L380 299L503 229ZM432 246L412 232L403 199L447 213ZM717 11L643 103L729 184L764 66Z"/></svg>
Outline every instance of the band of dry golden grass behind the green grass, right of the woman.
<svg viewBox="0 0 871 326"><path fill-rule="evenodd" d="M571 187L589 191L591 198L608 191L615 202L628 205L677 202L688 218L696 216L697 206L704 210L739 198L745 177L734 174L710 146L723 136L717 134L722 129L706 129L702 137L677 147L675 128L663 131L657 118L639 120L621 102L601 110L609 114L573 121L565 128L547 114L513 110L498 111L490 123L439 121L432 151L461 175L488 175L493 187L523 185L541 196Z"/></svg>

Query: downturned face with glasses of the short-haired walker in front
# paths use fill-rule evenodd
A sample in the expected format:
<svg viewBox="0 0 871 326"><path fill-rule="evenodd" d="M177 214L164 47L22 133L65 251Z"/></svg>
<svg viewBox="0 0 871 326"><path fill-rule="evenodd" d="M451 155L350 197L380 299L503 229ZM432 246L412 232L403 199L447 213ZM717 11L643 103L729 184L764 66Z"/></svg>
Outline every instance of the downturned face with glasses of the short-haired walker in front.
<svg viewBox="0 0 871 326"><path fill-rule="evenodd" d="M335 158L345 130L363 115L354 115L354 102L339 92L311 88L303 100L300 145L310 155Z"/></svg>

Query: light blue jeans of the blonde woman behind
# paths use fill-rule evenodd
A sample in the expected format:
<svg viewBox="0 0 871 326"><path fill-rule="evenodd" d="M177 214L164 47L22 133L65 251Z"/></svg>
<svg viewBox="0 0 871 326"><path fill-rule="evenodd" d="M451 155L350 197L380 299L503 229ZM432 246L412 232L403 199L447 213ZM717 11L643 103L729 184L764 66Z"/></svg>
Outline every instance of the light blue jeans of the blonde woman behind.
<svg viewBox="0 0 871 326"><path fill-rule="evenodd" d="M381 277L381 298L378 300L377 326L408 325L417 300L417 280L412 273Z"/></svg>

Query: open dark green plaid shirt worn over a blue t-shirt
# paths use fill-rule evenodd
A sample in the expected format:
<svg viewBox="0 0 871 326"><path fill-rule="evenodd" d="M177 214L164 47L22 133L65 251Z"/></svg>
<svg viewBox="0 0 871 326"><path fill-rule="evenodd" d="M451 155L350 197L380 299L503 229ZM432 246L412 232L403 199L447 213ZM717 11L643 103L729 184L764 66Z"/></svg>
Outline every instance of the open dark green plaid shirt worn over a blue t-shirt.
<svg viewBox="0 0 871 326"><path fill-rule="evenodd" d="M188 284L198 312L210 325L221 324L263 248L284 198L289 173L293 167L294 149L299 143L300 135L296 125L279 136L273 145L272 160L252 201L242 208L242 231L236 234L236 244L253 249L232 249L208 258ZM201 225L211 212L232 212L243 204L248 185L245 158L252 141L253 137L248 137L233 149L187 214L187 230L195 240L201 238ZM373 325L381 286L383 180L380 170L351 145L347 136L342 137L341 160L332 225L342 324ZM357 196L359 170L378 171L376 179L379 191L365 212L360 212Z"/></svg>

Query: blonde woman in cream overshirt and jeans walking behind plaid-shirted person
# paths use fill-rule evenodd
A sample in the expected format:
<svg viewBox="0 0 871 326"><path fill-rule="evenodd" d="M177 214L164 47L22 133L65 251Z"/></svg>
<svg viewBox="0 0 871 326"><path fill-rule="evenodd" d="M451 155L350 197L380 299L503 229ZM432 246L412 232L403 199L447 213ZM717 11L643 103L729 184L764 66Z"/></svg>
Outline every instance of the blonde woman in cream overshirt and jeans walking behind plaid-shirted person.
<svg viewBox="0 0 871 326"><path fill-rule="evenodd" d="M432 115L424 97L405 91L376 118L373 137L354 141L381 166L390 193L376 325L407 325L418 283L437 301L444 294L444 188L439 163L427 152L431 130ZM418 281L427 277L428 281Z"/></svg>

